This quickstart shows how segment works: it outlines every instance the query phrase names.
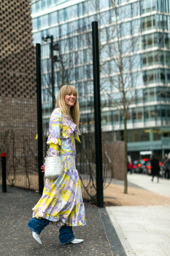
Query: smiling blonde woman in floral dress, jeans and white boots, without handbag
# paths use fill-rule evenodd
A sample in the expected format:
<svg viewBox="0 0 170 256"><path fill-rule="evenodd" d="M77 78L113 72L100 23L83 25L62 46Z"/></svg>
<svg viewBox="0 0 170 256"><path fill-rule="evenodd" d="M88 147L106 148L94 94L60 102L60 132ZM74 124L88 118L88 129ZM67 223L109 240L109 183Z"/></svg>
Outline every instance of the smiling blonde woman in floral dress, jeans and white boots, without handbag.
<svg viewBox="0 0 170 256"><path fill-rule="evenodd" d="M75 167L75 139L79 142L79 103L74 86L61 87L56 108L52 112L49 124L47 157L59 156L61 145L61 175L54 180L46 179L42 197L33 208L33 218L27 224L33 238L42 244L40 233L50 222L60 226L61 244L78 244L83 239L76 239L72 226L86 225L78 171ZM45 163L41 166L45 171Z"/></svg>

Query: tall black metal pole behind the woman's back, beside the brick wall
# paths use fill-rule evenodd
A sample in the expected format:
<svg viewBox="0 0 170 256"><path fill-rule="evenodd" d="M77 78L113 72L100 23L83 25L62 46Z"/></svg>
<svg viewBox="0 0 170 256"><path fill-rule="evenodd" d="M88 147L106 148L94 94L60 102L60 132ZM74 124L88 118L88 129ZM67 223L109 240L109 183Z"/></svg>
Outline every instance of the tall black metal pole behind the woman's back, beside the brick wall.
<svg viewBox="0 0 170 256"><path fill-rule="evenodd" d="M36 88L37 88L37 122L38 122L38 176L39 176L39 193L44 188L44 178L41 172L43 164L43 141L42 141L42 105L41 105L41 48L36 43Z"/></svg>

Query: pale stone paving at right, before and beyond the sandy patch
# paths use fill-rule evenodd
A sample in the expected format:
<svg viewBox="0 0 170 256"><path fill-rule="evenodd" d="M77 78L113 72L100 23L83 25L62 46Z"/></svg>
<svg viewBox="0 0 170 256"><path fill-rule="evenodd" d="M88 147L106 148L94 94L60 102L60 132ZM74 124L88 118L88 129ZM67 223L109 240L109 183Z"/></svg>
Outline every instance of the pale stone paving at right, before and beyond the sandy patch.
<svg viewBox="0 0 170 256"><path fill-rule="evenodd" d="M170 196L170 181L132 174L128 181L146 190ZM106 207L127 256L170 255L170 206Z"/></svg>

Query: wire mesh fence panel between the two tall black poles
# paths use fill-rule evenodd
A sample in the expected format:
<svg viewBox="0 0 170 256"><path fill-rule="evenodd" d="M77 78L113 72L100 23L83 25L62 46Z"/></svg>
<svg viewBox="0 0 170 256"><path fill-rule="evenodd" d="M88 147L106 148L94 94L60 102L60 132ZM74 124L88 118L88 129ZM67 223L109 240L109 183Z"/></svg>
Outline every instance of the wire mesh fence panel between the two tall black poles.
<svg viewBox="0 0 170 256"><path fill-rule="evenodd" d="M78 91L81 144L76 141L76 164L83 197L94 200L96 199L96 164L91 25L79 28L62 37L54 38L53 46L53 55L57 56L53 67L55 98L64 84L74 85ZM41 44L42 116L45 138L48 134L49 117L52 112L50 47L51 40Z"/></svg>

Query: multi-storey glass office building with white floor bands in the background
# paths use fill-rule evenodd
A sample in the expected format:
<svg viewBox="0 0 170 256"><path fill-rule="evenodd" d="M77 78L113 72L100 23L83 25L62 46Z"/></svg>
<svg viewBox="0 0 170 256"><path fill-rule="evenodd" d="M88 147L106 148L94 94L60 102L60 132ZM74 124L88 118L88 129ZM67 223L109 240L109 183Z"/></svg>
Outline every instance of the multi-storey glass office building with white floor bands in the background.
<svg viewBox="0 0 170 256"><path fill-rule="evenodd" d="M98 20L102 49L100 54L102 128L107 131L114 130L115 133L119 131L121 134L124 130L122 111L110 104L111 99L120 98L120 92L110 79L111 77L119 79L117 66L113 62L113 56L118 52L108 50L114 43L112 42L114 41L112 28L115 26L113 4L114 0L32 0L31 9L34 43L42 43L42 36L47 34L61 38L91 21ZM165 152L170 151L170 1L117 0L116 10L116 19L121 30L119 40L122 50L128 47L128 42L136 38L135 46L129 54L131 57L128 57L131 59L130 69L126 70L125 67L125 74L129 74L130 84L134 87L134 97L129 105L127 122L129 155L135 160L143 156L150 157L155 153L161 159ZM67 36L64 40L67 40ZM42 65L47 74L50 72L49 55L49 50L46 50L46 54L42 56ZM89 65L92 63L89 62ZM51 97L46 93L45 83L44 81L42 87L42 104L45 110L43 120L47 123L49 119L47 108L51 104ZM60 83L56 76L56 94ZM77 86L74 82L72 84ZM83 104L84 98L89 102L89 109L81 113L80 126L85 127L88 123L94 122L89 112L92 102L90 88L85 82L79 84L77 88L80 104Z"/></svg>

